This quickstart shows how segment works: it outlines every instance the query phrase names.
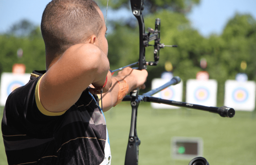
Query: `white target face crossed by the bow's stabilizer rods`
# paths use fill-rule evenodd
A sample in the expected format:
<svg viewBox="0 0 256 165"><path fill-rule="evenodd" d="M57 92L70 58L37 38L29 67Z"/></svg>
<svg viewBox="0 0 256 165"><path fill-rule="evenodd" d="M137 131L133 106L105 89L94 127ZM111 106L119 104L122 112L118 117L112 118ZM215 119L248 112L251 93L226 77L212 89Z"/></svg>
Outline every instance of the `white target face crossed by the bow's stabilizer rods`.
<svg viewBox="0 0 256 165"><path fill-rule="evenodd" d="M154 78L152 80L152 89L156 89L166 84L169 81L170 79ZM166 99L166 100L182 101L182 88L183 88L183 82L181 81L179 84L176 84L174 86L169 86L168 88L154 94L152 97L157 97L157 98ZM158 103L151 103L151 106L155 109L180 108L172 105L158 104Z"/></svg>

